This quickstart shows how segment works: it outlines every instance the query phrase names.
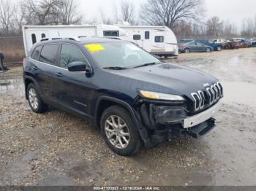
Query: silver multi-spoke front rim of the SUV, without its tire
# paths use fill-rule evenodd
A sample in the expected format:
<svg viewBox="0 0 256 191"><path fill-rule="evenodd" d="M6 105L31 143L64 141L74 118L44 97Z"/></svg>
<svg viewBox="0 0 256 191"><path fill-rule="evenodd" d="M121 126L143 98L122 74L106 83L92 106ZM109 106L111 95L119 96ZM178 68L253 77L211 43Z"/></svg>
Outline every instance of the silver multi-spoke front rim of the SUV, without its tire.
<svg viewBox="0 0 256 191"><path fill-rule="evenodd" d="M105 121L105 133L110 143L118 148L125 149L129 145L130 133L127 123L121 117L111 115Z"/></svg>

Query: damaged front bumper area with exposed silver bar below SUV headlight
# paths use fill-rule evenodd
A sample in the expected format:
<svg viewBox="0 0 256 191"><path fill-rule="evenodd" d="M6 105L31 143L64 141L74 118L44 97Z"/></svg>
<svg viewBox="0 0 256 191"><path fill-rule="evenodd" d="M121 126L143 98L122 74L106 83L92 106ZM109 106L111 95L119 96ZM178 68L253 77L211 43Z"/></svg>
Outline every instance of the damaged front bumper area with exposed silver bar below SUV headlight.
<svg viewBox="0 0 256 191"><path fill-rule="evenodd" d="M160 103L158 101L140 101L140 123L146 129L143 140L146 147L154 147L162 141L171 141L178 136L198 138L206 135L215 127L214 114L219 111L219 101L204 112L191 117L187 115L185 103Z"/></svg>

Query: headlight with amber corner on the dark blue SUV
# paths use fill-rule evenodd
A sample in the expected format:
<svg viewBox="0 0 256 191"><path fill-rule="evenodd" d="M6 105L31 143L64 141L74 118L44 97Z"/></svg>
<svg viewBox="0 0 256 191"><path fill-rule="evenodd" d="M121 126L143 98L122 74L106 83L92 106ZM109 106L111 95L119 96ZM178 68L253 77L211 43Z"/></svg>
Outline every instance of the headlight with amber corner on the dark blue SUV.
<svg viewBox="0 0 256 191"><path fill-rule="evenodd" d="M140 95L143 96L143 98L148 98L148 99L166 100L166 101L185 101L185 99L180 95L157 93L157 92L150 92L145 90L140 90L139 92L140 92Z"/></svg>

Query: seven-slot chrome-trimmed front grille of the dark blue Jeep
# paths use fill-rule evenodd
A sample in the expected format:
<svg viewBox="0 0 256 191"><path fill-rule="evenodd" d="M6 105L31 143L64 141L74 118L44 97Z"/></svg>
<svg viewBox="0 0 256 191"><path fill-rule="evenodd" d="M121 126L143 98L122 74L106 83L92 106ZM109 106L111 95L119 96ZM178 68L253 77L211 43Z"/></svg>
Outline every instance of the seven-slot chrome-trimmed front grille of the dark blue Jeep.
<svg viewBox="0 0 256 191"><path fill-rule="evenodd" d="M213 105L223 96L222 85L217 82L209 85L205 90L198 90L197 93L191 93L194 100L193 107L195 112Z"/></svg>

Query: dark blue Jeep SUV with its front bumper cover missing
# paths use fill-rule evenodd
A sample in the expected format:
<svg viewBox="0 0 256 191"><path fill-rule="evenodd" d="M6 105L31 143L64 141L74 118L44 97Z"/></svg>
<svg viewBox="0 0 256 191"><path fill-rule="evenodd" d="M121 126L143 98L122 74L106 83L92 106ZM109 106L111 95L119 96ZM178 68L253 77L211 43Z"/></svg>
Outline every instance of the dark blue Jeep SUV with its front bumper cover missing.
<svg viewBox="0 0 256 191"><path fill-rule="evenodd" d="M26 98L91 120L118 155L214 128L222 85L196 69L163 63L118 39L34 44L24 63Z"/></svg>

